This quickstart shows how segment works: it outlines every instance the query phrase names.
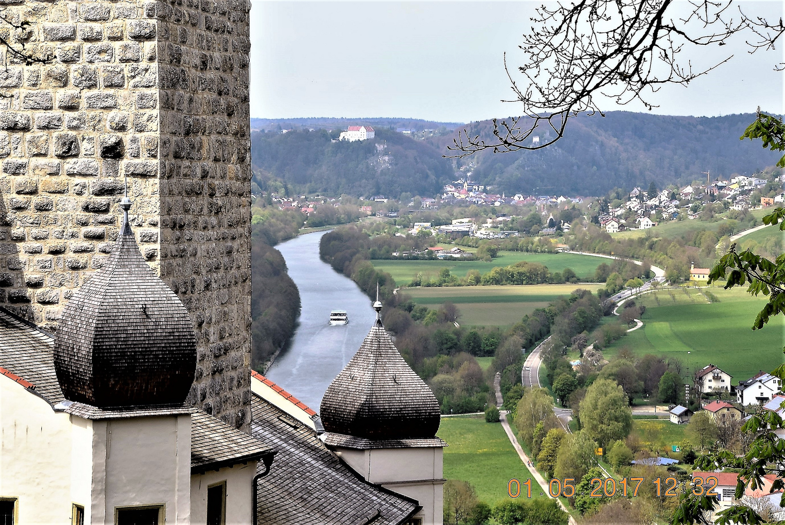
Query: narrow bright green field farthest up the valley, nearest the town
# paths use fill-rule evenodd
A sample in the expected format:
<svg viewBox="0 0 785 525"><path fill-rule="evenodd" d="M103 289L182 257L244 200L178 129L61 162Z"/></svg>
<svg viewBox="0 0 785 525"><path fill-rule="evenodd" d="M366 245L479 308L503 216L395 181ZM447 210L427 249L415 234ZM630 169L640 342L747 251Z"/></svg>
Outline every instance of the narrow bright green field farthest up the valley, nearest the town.
<svg viewBox="0 0 785 525"><path fill-rule="evenodd" d="M411 283L418 274L423 277L436 279L442 268L450 268L450 273L457 277L465 277L469 270L477 270L481 274L490 272L499 266L509 266L520 261L537 262L545 264L551 272L562 272L564 268L571 268L580 279L594 276L594 271L603 262L600 257L590 255L576 255L575 253L527 253L527 252L499 252L491 262L485 261L392 261L387 259L374 259L371 263L375 268L389 272L398 286Z"/></svg>

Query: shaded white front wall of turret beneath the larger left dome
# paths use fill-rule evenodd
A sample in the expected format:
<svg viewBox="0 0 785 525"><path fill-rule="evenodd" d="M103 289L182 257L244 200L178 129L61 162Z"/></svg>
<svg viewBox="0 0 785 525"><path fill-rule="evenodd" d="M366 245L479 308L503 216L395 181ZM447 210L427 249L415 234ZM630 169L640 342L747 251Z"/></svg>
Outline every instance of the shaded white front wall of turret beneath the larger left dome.
<svg viewBox="0 0 785 525"><path fill-rule="evenodd" d="M93 421L91 525L115 509L164 505L165 523L191 523L191 416Z"/></svg>

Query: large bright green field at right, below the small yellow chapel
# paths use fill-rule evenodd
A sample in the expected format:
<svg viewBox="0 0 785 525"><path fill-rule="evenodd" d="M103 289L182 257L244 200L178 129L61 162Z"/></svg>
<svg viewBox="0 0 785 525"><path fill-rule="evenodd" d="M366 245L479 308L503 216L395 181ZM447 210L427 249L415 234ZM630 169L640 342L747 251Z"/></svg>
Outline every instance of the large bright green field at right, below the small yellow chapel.
<svg viewBox="0 0 785 525"><path fill-rule="evenodd" d="M623 347L638 355L674 355L691 370L714 363L731 374L734 383L783 363L783 316L772 317L763 330L750 330L765 304L762 296L714 287L710 292L720 302L709 303L695 289L672 290L673 297L667 290L645 294L637 300L647 307L644 327L606 348L605 358Z"/></svg>

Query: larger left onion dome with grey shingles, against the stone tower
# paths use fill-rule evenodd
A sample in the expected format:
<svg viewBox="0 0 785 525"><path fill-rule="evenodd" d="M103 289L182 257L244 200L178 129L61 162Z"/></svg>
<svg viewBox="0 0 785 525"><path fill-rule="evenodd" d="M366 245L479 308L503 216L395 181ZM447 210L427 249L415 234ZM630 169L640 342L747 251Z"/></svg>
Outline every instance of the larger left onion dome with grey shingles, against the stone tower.
<svg viewBox="0 0 785 525"><path fill-rule="evenodd" d="M192 321L139 252L127 191L120 206L111 255L63 310L54 342L57 381L66 399L95 407L182 404L196 368Z"/></svg>

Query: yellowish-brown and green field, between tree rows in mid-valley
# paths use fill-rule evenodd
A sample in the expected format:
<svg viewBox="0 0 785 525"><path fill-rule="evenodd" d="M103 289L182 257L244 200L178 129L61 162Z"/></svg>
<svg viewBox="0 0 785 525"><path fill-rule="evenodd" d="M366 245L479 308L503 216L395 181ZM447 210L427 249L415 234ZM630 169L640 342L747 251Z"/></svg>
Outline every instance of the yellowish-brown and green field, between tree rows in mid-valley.
<svg viewBox="0 0 785 525"><path fill-rule="evenodd" d="M524 315L544 308L559 296L576 288L595 291L601 285L532 284L524 286L451 286L447 288L408 288L403 290L417 304L437 308L451 301L461 311L458 323L469 326L508 326Z"/></svg>

